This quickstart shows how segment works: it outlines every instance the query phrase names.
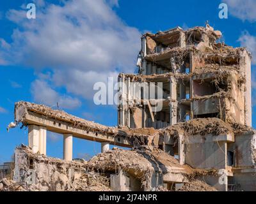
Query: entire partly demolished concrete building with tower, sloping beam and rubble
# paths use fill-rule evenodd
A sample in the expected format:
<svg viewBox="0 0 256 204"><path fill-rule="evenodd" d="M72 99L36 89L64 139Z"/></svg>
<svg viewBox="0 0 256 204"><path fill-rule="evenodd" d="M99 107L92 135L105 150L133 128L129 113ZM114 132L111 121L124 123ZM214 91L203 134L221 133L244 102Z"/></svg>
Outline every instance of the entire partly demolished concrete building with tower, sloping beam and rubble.
<svg viewBox="0 0 256 204"><path fill-rule="evenodd" d="M118 77L118 128L16 103L29 148L15 151L15 182L38 191L255 191L251 55L220 38L209 25L144 34L138 74ZM64 161L45 156L47 131L63 135ZM102 153L72 161L72 137L102 143Z"/></svg>

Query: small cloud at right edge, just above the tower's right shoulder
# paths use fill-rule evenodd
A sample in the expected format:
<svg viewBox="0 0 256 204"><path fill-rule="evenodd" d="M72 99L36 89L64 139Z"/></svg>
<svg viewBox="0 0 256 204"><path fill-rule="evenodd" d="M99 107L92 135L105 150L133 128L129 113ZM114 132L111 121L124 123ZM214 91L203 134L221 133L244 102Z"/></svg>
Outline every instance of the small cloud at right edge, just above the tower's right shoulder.
<svg viewBox="0 0 256 204"><path fill-rule="evenodd" d="M244 31L238 41L241 43L241 47L246 47L252 53L252 64L256 64L256 37L248 31Z"/></svg>

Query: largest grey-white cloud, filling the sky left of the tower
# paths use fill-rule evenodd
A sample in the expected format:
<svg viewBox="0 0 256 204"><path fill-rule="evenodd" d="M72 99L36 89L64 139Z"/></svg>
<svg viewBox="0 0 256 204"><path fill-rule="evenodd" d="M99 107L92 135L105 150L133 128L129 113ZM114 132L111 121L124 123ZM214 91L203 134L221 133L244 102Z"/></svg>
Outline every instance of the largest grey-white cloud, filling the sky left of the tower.
<svg viewBox="0 0 256 204"><path fill-rule="evenodd" d="M28 20L24 11L10 10L7 17L18 29L13 31L12 51L2 53L4 60L39 71L50 68L52 84L92 99L95 82L134 71L140 50L138 29L126 25L112 10L118 1L106 2L45 4L36 10L35 20Z"/></svg>

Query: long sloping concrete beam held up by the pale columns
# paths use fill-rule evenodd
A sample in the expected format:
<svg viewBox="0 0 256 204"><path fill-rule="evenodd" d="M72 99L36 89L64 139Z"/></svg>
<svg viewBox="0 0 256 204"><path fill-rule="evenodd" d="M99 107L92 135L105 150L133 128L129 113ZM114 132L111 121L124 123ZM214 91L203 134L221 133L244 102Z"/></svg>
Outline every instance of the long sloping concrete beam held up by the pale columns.
<svg viewBox="0 0 256 204"><path fill-rule="evenodd" d="M90 140L95 142L109 142L111 145L118 145L120 147L132 147L132 145L127 140L125 133L120 131L118 135L110 135L108 133L98 133L95 131L88 131L84 130L82 128L74 128L74 124L54 119L50 117L45 117L44 115L41 115L40 113L35 112L26 112L24 114L24 117L22 119L23 122L31 125L36 126L44 126L47 128L48 131L59 133L59 134L72 134L76 138L81 138L84 140ZM36 135L36 129L35 131L31 132L32 135ZM35 136L35 140L37 140L37 137ZM38 136L39 140L39 136ZM33 141L31 141L31 145L33 145ZM37 142L34 142L34 149L38 150L39 147L36 147ZM30 146L29 146L30 147ZM37 148L37 149L36 149Z"/></svg>

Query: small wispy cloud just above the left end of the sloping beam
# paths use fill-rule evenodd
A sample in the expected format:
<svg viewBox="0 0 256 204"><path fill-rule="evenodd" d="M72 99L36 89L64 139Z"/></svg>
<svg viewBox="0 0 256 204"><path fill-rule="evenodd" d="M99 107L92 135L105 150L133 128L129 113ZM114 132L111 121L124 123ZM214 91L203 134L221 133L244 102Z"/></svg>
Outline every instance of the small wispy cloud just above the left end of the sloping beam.
<svg viewBox="0 0 256 204"><path fill-rule="evenodd" d="M56 106L58 103L59 108L68 109L81 106L79 99L58 94L58 92L54 91L44 80L35 80L31 84L31 92L37 103L44 103L49 106Z"/></svg>

